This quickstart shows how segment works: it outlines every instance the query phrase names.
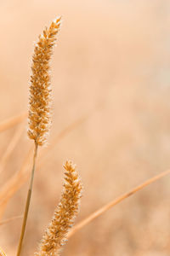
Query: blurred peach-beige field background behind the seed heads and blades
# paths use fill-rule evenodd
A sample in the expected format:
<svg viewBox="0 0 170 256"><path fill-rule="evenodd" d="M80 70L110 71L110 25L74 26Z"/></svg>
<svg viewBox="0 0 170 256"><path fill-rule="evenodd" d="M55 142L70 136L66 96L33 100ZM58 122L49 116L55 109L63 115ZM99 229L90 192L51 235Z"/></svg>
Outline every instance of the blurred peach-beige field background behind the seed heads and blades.
<svg viewBox="0 0 170 256"><path fill-rule="evenodd" d="M65 160L77 164L84 186L77 223L170 166L168 0L1 0L0 121L27 111L34 43L58 15L48 147L60 139L50 151L39 150L46 157L35 176L25 256L36 251L59 202ZM0 192L31 148L26 125L25 119L0 133ZM11 196L1 220L23 213L27 188L26 181ZM63 255L170 255L169 196L165 177L78 231ZM16 252L20 226L20 218L0 226L8 256Z"/></svg>

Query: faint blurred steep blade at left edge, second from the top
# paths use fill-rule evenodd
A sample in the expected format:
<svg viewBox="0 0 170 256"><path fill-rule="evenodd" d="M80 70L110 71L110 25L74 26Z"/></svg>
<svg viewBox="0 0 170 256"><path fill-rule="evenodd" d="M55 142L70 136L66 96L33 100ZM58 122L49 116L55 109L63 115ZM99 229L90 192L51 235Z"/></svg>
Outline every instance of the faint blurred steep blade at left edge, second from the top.
<svg viewBox="0 0 170 256"><path fill-rule="evenodd" d="M20 125L20 127L17 129L17 131L15 131L14 136L12 137L10 143L8 144L7 149L5 150L5 152L3 153L3 156L0 160L0 172L3 171L5 164L8 161L9 156L12 154L14 148L16 147L17 143L20 140L20 137L22 135L22 132L24 131L25 126L24 125Z"/></svg>

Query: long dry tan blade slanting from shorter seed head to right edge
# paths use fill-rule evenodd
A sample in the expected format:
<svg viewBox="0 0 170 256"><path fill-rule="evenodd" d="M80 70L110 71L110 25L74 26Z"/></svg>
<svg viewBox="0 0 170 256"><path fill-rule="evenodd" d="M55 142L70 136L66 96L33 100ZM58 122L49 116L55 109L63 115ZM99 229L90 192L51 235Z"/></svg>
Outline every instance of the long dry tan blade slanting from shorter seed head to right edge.
<svg viewBox="0 0 170 256"><path fill-rule="evenodd" d="M94 213L90 214L88 218L83 219L79 224L75 225L75 227L70 231L68 237L71 237L74 235L78 230L81 230L85 225L93 221L95 218L98 218L100 215L102 215L104 212L108 211L112 207L116 206L118 203L126 199L127 197L133 195L134 193L138 192L141 189L144 189L144 187L150 185L151 183L156 182L156 180L160 179L161 177L166 176L167 174L170 174L170 170L167 170L166 172L162 172L155 177L151 177L150 179L146 180L144 183L139 184L139 186L131 189L127 193L117 197L115 200L109 202L104 207L99 208L99 210L95 211Z"/></svg>

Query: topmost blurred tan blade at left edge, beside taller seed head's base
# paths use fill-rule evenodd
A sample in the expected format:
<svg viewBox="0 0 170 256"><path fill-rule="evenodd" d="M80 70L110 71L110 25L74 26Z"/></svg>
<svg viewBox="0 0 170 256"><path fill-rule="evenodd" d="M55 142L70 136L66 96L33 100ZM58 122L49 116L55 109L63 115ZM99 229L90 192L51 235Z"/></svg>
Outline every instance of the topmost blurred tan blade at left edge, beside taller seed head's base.
<svg viewBox="0 0 170 256"><path fill-rule="evenodd" d="M24 119L26 119L27 117L27 113L20 113L12 118L6 119L3 122L0 123L0 132L1 131L5 131L11 127L13 127L14 125L18 125L20 124L20 122L22 122Z"/></svg>

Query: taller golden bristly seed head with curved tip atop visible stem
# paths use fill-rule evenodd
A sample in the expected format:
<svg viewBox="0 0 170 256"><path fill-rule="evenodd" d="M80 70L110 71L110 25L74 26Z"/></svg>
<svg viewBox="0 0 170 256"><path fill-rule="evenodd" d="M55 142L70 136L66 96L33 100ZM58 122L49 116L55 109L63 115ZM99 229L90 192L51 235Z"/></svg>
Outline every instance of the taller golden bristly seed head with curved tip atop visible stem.
<svg viewBox="0 0 170 256"><path fill-rule="evenodd" d="M39 36L32 57L28 136L39 146L46 143L51 125L49 61L56 41L55 36L59 32L60 19L59 17L54 20Z"/></svg>

